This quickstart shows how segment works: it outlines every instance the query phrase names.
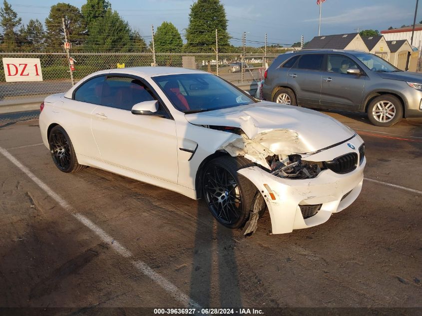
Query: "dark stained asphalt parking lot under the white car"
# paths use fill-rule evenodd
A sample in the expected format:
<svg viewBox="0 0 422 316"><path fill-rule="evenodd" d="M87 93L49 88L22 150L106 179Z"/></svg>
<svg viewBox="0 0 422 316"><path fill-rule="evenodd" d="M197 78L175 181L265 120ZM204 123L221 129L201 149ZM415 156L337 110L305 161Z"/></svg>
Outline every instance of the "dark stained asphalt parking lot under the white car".
<svg viewBox="0 0 422 316"><path fill-rule="evenodd" d="M328 222L290 234L271 235L267 213L247 238L217 224L201 200L95 168L61 173L37 120L0 122L0 307L71 315L365 307L417 315L422 120L378 128L363 114L328 114L365 140L361 195Z"/></svg>

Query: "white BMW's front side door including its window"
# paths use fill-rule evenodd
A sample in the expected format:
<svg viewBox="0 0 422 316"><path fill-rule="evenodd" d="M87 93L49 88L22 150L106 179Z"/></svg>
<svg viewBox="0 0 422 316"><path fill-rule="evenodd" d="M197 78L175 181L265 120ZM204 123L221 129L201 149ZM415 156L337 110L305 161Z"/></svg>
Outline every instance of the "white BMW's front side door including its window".
<svg viewBox="0 0 422 316"><path fill-rule="evenodd" d="M156 94L139 78L108 75L101 105L92 113L92 133L105 163L177 183L174 120L131 112L134 104L150 100Z"/></svg>

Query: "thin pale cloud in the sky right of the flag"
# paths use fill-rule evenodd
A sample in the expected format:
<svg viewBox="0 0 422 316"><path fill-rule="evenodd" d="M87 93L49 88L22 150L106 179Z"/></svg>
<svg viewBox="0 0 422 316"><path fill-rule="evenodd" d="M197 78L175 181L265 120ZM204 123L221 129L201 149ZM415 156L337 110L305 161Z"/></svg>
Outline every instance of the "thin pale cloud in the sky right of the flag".
<svg viewBox="0 0 422 316"><path fill-rule="evenodd" d="M385 20L401 20L413 15L412 12L405 11L402 8L393 5L373 5L357 7L347 10L345 13L338 15L321 17L321 23L324 24L346 24L356 22L368 22L377 24ZM305 22L316 22L318 18L307 19Z"/></svg>

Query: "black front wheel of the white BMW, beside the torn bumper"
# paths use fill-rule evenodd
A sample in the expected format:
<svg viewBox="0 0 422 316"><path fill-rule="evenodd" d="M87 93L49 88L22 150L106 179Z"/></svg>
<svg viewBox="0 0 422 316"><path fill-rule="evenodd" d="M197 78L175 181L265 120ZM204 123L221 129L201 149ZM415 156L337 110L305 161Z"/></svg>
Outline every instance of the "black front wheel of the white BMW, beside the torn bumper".
<svg viewBox="0 0 422 316"><path fill-rule="evenodd" d="M204 169L202 190L208 209L215 219L229 228L245 225L252 210L257 188L237 171L254 164L244 157L222 156Z"/></svg>

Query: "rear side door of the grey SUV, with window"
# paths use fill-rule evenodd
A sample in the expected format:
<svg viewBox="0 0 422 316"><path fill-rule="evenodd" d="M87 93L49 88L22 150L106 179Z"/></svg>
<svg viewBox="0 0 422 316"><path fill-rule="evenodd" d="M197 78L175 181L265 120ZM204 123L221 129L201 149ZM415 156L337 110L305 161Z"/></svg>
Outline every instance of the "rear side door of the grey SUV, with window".
<svg viewBox="0 0 422 316"><path fill-rule="evenodd" d="M319 106L324 54L303 54L287 75L299 105Z"/></svg>

